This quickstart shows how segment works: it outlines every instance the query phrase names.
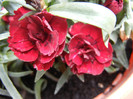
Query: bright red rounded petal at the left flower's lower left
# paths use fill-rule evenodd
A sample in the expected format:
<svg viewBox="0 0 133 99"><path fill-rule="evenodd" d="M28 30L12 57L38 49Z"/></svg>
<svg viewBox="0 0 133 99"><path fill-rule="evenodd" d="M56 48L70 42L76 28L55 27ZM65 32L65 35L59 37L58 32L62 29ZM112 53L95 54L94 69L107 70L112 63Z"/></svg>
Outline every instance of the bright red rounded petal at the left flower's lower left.
<svg viewBox="0 0 133 99"><path fill-rule="evenodd" d="M32 62L35 61L38 58L38 50L36 49L31 49L30 51L27 52L20 52L17 50L14 50L14 54L21 60L26 61L26 62Z"/></svg>

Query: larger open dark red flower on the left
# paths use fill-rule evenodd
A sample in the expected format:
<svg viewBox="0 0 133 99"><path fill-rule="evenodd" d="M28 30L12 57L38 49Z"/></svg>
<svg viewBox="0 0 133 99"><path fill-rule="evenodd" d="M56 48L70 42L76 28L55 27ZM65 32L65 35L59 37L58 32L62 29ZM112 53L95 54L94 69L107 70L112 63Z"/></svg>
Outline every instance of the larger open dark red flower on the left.
<svg viewBox="0 0 133 99"><path fill-rule="evenodd" d="M65 46L66 19L42 11L18 21L29 12L24 7L15 11L10 22L9 47L21 60L33 62L37 70L48 70Z"/></svg>

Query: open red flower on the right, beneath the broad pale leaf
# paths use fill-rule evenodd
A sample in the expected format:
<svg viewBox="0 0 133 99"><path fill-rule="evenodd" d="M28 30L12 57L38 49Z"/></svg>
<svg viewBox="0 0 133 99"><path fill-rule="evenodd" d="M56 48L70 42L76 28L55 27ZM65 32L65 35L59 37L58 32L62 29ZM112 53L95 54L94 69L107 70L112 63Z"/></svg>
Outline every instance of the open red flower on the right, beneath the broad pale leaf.
<svg viewBox="0 0 133 99"><path fill-rule="evenodd" d="M65 59L73 73L98 75L110 66L113 49L110 43L108 48L104 45L100 28L78 22L69 32L72 38Z"/></svg>

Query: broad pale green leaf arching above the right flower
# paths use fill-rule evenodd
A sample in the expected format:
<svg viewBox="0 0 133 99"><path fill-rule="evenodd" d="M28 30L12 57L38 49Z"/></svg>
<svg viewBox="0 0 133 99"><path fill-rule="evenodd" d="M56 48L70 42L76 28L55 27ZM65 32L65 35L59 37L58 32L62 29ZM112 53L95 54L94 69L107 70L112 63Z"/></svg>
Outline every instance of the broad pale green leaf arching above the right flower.
<svg viewBox="0 0 133 99"><path fill-rule="evenodd" d="M112 11L93 3L68 2L55 4L49 7L49 12L60 17L95 25L108 34L112 32L116 23L116 17Z"/></svg>

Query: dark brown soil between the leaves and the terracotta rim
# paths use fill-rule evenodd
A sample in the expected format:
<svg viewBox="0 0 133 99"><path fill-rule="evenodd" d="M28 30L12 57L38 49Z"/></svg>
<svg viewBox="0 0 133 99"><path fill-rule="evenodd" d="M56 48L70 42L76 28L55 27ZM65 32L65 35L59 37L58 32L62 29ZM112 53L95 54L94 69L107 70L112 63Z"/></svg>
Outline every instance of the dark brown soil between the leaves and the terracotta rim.
<svg viewBox="0 0 133 99"><path fill-rule="evenodd" d="M117 73L109 75L106 72L99 76L85 75L84 83L72 76L57 95L53 94L56 83L51 81L42 93L42 99L92 99L111 85L116 75Z"/></svg>

